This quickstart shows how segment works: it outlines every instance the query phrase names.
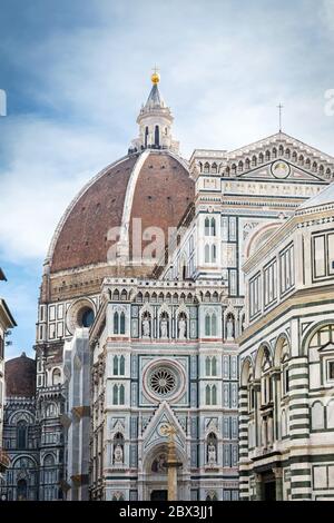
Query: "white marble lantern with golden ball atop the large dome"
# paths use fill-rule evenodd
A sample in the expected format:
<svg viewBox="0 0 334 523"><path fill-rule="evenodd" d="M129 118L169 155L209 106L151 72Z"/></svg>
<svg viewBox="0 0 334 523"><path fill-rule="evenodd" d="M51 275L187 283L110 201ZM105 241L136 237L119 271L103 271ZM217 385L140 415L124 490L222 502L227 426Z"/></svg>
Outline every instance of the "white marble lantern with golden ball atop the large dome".
<svg viewBox="0 0 334 523"><path fill-rule="evenodd" d="M139 137L132 140L130 151L169 149L178 154L179 142L171 136L174 117L160 95L158 87L160 75L156 69L150 79L153 82L150 93L137 118Z"/></svg>

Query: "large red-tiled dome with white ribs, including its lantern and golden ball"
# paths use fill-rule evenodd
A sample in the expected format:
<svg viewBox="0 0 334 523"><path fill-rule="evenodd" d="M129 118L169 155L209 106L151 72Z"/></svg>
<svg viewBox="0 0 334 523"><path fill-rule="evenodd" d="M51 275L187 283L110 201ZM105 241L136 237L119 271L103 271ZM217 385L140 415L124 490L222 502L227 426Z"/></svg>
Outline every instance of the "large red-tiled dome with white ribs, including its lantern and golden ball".
<svg viewBox="0 0 334 523"><path fill-rule="evenodd" d="M96 175L62 216L45 264L43 300L79 295L84 286L96 292L105 277L151 276L191 207L195 181L178 154L159 79L151 77L127 156Z"/></svg>

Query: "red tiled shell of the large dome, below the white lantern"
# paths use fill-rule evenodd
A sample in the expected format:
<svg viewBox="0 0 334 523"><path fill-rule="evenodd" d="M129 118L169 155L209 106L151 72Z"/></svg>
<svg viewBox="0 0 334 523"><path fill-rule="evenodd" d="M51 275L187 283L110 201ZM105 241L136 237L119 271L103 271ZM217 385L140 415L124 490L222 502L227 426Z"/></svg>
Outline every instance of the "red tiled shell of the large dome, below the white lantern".
<svg viewBox="0 0 334 523"><path fill-rule="evenodd" d="M108 230L125 220L131 258L134 218L141 219L143 230L163 229L167 243L168 228L179 224L194 195L186 162L168 150L120 159L97 175L69 206L49 250L50 272L106 264L112 245Z"/></svg>

